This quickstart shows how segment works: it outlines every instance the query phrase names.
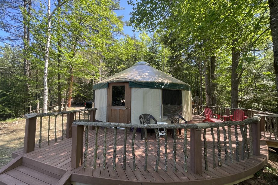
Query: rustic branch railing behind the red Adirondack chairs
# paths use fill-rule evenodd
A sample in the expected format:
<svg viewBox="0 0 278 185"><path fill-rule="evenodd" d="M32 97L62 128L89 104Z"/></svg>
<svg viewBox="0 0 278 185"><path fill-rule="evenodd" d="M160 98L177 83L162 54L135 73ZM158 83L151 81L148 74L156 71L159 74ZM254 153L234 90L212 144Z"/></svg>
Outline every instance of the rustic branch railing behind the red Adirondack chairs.
<svg viewBox="0 0 278 185"><path fill-rule="evenodd" d="M217 107L217 106L206 106L206 105L192 105L193 115L202 115L205 108L210 108L213 114L220 115L232 115L233 111L236 109L241 109L244 111L245 116L251 118L255 114L261 114L261 132L264 132L264 139L266 139L265 133L269 134L269 139L277 140L278 135L278 114L273 114L269 112L256 111L252 109L245 108L227 108L227 107ZM272 138L273 137L273 138Z"/></svg>

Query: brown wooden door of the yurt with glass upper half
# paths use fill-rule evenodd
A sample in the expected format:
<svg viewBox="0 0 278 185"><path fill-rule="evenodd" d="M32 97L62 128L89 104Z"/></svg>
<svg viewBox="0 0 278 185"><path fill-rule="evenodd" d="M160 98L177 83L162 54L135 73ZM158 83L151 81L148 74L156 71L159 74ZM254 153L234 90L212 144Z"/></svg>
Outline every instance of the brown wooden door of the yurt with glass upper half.
<svg viewBox="0 0 278 185"><path fill-rule="evenodd" d="M130 123L131 88L128 82L109 83L107 90L107 122Z"/></svg>

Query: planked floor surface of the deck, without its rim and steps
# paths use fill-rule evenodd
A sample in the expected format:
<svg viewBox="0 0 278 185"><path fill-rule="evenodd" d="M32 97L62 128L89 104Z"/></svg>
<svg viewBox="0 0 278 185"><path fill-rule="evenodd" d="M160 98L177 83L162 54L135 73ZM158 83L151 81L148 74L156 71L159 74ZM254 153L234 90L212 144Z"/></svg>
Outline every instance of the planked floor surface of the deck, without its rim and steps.
<svg viewBox="0 0 278 185"><path fill-rule="evenodd" d="M203 117L193 116L193 123L200 123ZM232 147L233 147L233 160L234 163L230 162L228 157L228 164L225 165L225 151L224 151L224 135L222 128L221 130L221 162L222 167L218 167L218 150L217 150L217 132L216 128L213 130L215 135L215 160L216 167L213 166L213 153L212 153L212 135L210 130L207 129L206 138L207 138L207 159L208 159L208 171L205 171L205 162L204 162L204 143L203 143L203 130L202 130L202 174L195 174L191 169L190 163L190 130L187 134L187 172L184 172L184 153L183 153L183 142L184 134L182 131L181 135L177 135L177 151L176 151L176 161L177 161L177 172L174 172L173 166L173 139L171 135L168 134L168 171L164 170L164 137L160 139L160 161L159 168L157 172L154 172L154 166L156 162L156 146L157 142L155 135L150 135L148 133L148 165L147 171L144 171L144 161L145 161L145 142L141 140L141 135L136 134L134 152L136 156L136 170L133 170L133 161L131 153L131 140L132 132L128 132L127 136L127 153L126 153L126 170L123 170L123 143L124 143L124 134L122 130L119 130L117 133L117 156L116 156L116 170L113 170L113 129L107 129L107 158L106 158L106 169L103 169L103 141L104 141L104 131L102 128L98 132L98 149L97 149L97 168L92 169L92 160L94 157L94 142L95 142L95 130L89 131L88 134L88 155L87 155L87 167L84 169L83 166L73 169L71 168L71 138L62 141L61 138L57 138L57 142L54 140L50 141L50 145L47 145L47 141L42 143L42 148L39 148L36 144L35 151L24 154L30 158L39 160L41 162L55 165L60 168L67 170L72 170L78 174L90 175L93 177L103 177L103 178L112 178L119 180L132 180L140 182L180 182L180 181L196 181L196 180L208 180L212 178L226 178L228 176L245 172L248 169L252 169L253 166L258 165L267 158L268 150L265 144L265 141L261 140L261 156L249 157L249 159L241 160L236 162L235 155L235 136L234 129L232 128ZM226 127L227 131L227 127ZM247 134L249 134L247 132ZM242 137L239 132L239 141L241 142ZM228 141L228 139L227 139ZM248 141L249 142L249 141ZM248 143L249 144L249 143ZM85 140L83 142L85 146ZM83 148L85 150L85 147ZM227 142L227 150L229 152L229 145ZM241 147L240 147L241 150ZM17 154L23 154L23 150L17 150ZM17 170L17 169L14 169ZM11 172L10 172L11 173ZM21 172L22 173L22 172ZM5 174L10 175L10 174ZM35 176L35 175L34 175ZM34 178L33 176L33 178ZM10 175L11 177L11 175ZM36 178L35 178L36 179ZM41 179L42 180L42 179ZM50 179L49 179L50 180ZM50 181L48 181L50 183ZM51 184L51 183L50 183Z"/></svg>

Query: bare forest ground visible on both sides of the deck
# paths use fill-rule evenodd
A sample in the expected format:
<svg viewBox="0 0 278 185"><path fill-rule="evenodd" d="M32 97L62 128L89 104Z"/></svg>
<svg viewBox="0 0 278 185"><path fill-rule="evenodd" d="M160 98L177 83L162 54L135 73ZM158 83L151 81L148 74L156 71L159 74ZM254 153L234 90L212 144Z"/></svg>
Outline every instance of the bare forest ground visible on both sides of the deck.
<svg viewBox="0 0 278 185"><path fill-rule="evenodd" d="M69 110L77 110L84 106L73 106ZM77 115L76 115L77 116ZM80 119L83 118L81 115ZM54 139L54 120L55 116L50 119L50 139ZM47 141L48 117L43 117L42 123L42 142ZM57 117L57 137L62 134L61 116ZM66 121L64 121L64 128ZM37 121L39 128L39 121ZM36 142L39 140L39 129L36 129ZM65 130L64 130L65 132ZM23 147L25 133L25 119L18 118L0 122L0 168L11 161L11 153ZM269 148L269 159L267 164L260 171L254 174L254 177L238 183L238 185L272 185L278 184L278 149Z"/></svg>

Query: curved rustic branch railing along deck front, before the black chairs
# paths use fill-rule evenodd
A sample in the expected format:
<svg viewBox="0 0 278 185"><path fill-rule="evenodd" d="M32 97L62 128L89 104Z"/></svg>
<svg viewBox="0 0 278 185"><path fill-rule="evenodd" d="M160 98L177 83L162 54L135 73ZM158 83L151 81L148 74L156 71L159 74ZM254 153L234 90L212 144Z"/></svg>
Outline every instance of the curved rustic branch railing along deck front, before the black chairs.
<svg viewBox="0 0 278 185"><path fill-rule="evenodd" d="M221 167L221 133L220 128L223 129L224 134L224 150L225 150L225 164L227 164L229 161L231 163L233 162L233 147L232 147L232 136L231 136L231 126L234 126L235 129L235 137L236 140L236 161L239 161L239 156L241 156L241 160L244 160L245 158L248 158L249 156L260 155L260 118L261 115L256 114L254 117L246 119L244 121L227 121L223 123L197 123L197 124L163 124L163 125L156 125L156 124L150 124L150 125L137 125L137 124L123 124L123 123L108 123L108 122L82 122L82 121L74 121L73 122L73 128L76 131L74 137L72 138L72 151L75 153L72 153L72 166L73 168L77 168L82 164L82 153L83 153L83 147L77 146L82 145L80 143L83 138L83 133L78 132L78 130L83 130L83 127L85 126L85 135L88 136L88 126L96 126L97 129L95 130L95 148L94 148L94 160L93 160L93 166L96 167L96 158L97 158L97 132L99 127L104 127L105 131L107 127L113 127L114 128L114 142L113 142L113 169L116 169L116 145L117 145L117 127L125 128L124 132L124 161L123 161L123 168L125 170L126 166L126 140L127 140L127 132L126 128L133 127L133 134L132 134L132 140L131 140L131 149L132 149L132 160L133 160L133 170L136 170L136 161L135 161L135 154L134 154L134 142L135 142L135 133L137 128L141 129L155 129L156 132L156 141L157 141L157 157L156 157L156 164L154 167L154 171L158 170L159 166L159 160L160 160L160 139L158 135L158 129L165 129L165 132L167 133L167 129L174 129L174 137L173 137L173 166L174 171L177 170L176 167L176 137L177 137L177 129L184 129L184 171L187 172L187 130L190 129L190 148L191 148L191 169L196 174L202 173L202 140L201 140L201 133L202 130L204 130L203 134L203 140L204 140L204 162L205 162L205 170L208 170L208 157L207 157L207 141L206 141L206 129L211 129L211 135L213 138L212 142L212 160L213 160L213 168L216 166L216 160L215 160L215 133L214 128L216 128L217 133L217 151L218 151L218 166ZM228 137L226 133L225 127L227 126L228 129ZM240 127L241 136L242 136L242 149L241 154L239 154L239 140L238 140L238 132L237 132L237 126ZM248 126L248 127L247 127ZM249 144L247 140L247 129L249 129ZM77 133L78 132L78 133ZM147 169L147 151L148 151L148 140L147 140L147 132L145 132L145 166L144 170ZM104 161L106 160L106 132L104 132L104 148L103 148L103 169L106 168ZM227 143L228 138L228 143ZM165 152L164 152L164 159L165 159L165 171L167 171L167 135L165 137ZM229 145L229 147L227 147ZM248 146L249 145L249 146ZM251 147L252 146L252 147ZM229 152L228 152L229 148ZM85 154L84 154L84 168L86 168L87 165L87 152L88 152L88 139L85 137Z"/></svg>

